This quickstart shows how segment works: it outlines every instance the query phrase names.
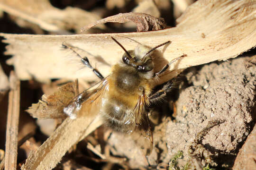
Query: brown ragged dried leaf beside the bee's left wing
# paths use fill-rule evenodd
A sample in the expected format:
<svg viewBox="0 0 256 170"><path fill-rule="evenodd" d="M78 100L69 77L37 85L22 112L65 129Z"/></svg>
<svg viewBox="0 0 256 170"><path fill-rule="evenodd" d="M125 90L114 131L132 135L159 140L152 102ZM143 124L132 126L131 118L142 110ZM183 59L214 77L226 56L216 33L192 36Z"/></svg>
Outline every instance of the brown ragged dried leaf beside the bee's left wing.
<svg viewBox="0 0 256 170"><path fill-rule="evenodd" d="M42 100L32 104L26 110L33 118L37 119L59 119L66 118L63 108L75 97L75 83L67 83L59 88L54 94L42 96Z"/></svg>

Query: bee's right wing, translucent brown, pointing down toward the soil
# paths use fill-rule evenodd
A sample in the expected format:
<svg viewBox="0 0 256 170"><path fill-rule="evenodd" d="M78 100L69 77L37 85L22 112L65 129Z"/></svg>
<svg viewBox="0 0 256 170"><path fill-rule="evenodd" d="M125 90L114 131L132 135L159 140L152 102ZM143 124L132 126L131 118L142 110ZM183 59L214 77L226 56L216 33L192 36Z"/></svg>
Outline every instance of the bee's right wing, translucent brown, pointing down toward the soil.
<svg viewBox="0 0 256 170"><path fill-rule="evenodd" d="M133 139L141 147L145 155L149 155L153 149L153 132L146 110L145 98L140 96L135 107L136 127Z"/></svg>

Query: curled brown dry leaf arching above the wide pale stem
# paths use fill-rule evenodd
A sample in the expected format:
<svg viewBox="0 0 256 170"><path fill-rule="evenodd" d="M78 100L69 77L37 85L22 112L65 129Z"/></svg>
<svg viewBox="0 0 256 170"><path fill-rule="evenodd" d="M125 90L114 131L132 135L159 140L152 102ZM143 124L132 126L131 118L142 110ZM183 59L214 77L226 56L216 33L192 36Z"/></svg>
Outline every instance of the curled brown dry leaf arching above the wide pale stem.
<svg viewBox="0 0 256 170"><path fill-rule="evenodd" d="M101 20L98 20L94 23L91 23L88 26L84 26L81 28L81 31L86 31L93 26L98 24L104 24L107 22L118 22L118 23L126 23L126 22L134 22L137 25L137 32L142 31L154 31L161 30L165 28L165 21L163 18L156 18L148 14L129 12L129 13L120 13L118 15L114 15L111 17L106 17Z"/></svg>

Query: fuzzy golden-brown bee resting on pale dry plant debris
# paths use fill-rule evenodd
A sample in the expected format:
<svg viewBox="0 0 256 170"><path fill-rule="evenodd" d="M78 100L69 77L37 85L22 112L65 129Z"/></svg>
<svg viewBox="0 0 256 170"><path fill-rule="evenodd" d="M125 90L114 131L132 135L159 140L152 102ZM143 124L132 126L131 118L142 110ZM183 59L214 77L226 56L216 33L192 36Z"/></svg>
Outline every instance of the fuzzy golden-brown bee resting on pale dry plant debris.
<svg viewBox="0 0 256 170"><path fill-rule="evenodd" d="M111 37L124 51L122 59L112 66L111 73L103 77L97 68L93 68L87 57L81 57L72 45L64 42L63 47L70 49L81 57L82 63L91 68L101 81L96 88L85 90L77 95L64 107L64 113L75 119L83 107L100 109L102 119L114 131L121 133L137 133L142 136L140 143L144 145L144 154L149 155L153 148L153 133L148 112L152 103L161 101L172 89L172 84L166 84L163 89L153 93L154 82L165 72L170 64L181 59L180 56L155 72L152 53L157 48L171 41L164 42L154 48L138 44L134 50L127 51L115 38ZM94 109L91 109L93 112Z"/></svg>

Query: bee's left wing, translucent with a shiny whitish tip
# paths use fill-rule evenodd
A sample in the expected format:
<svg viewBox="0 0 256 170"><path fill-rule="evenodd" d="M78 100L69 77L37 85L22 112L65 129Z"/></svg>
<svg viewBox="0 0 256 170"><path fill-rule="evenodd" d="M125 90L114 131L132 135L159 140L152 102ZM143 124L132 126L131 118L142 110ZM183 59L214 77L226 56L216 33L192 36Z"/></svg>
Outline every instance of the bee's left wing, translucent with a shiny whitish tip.
<svg viewBox="0 0 256 170"><path fill-rule="evenodd" d="M96 87L93 90L90 90L96 85L98 85L98 87ZM90 87L89 89L83 91L82 93L74 97L73 100L66 107L64 107L64 113L67 114L71 119L75 119L79 114L82 105L86 103L95 104L99 102L99 99L102 98L101 96L103 95L103 93L106 92L106 88L108 87L108 77L102 79L96 85Z"/></svg>

